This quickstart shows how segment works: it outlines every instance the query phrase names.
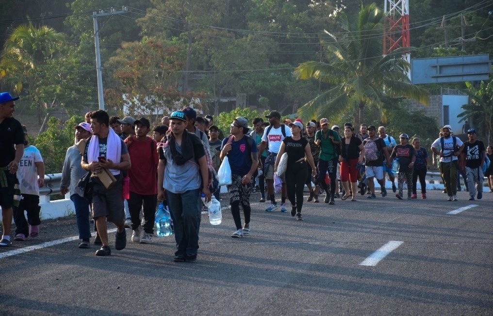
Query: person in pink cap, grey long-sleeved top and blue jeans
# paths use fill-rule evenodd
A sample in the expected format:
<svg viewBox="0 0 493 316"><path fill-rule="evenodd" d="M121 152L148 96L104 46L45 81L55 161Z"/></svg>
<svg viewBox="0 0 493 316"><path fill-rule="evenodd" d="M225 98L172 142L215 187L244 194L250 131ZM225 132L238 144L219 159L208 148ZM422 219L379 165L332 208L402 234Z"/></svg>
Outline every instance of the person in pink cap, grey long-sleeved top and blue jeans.
<svg viewBox="0 0 493 316"><path fill-rule="evenodd" d="M75 126L75 144L89 137L91 137L91 125L89 123L84 122ZM80 178L86 173L80 165L80 160L80 151L77 146L69 147L62 168L60 192L64 195L70 192L70 200L75 208L75 221L79 232L79 248L87 249L91 239L91 228L88 219L89 202L84 198L84 192L77 186Z"/></svg>

